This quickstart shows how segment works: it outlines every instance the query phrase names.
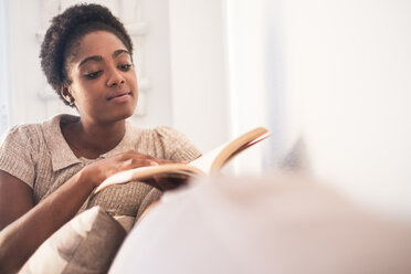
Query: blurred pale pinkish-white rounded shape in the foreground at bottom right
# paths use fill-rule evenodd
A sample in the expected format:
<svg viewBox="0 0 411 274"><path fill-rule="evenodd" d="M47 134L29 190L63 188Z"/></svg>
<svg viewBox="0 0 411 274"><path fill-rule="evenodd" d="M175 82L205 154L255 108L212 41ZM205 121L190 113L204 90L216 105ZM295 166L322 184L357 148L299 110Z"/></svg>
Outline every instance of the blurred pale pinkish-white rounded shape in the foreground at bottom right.
<svg viewBox="0 0 411 274"><path fill-rule="evenodd" d="M411 273L411 225L299 176L208 178L166 193L109 273Z"/></svg>

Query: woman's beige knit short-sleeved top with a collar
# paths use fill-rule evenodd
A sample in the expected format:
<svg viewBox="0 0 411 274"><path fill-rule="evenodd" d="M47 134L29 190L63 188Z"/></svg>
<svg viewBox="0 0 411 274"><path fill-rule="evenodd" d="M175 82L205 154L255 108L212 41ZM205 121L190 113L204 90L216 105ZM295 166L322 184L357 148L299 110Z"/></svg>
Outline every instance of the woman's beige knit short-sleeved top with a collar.
<svg viewBox="0 0 411 274"><path fill-rule="evenodd" d="M126 122L122 141L97 159L77 158L65 141L60 124L80 117L59 115L42 124L12 127L0 143L0 169L19 178L33 189L39 203L83 167L127 150L136 150L159 159L192 160L199 150L181 133L161 126L140 129ZM120 215L136 215L144 197L152 187L141 182L114 186L91 196L80 212L101 205Z"/></svg>

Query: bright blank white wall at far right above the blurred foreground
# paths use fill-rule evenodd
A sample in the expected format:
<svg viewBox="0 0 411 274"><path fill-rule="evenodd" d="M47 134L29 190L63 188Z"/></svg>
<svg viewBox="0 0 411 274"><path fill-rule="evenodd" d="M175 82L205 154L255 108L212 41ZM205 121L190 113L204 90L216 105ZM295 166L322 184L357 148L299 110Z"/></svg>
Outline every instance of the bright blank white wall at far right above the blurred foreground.
<svg viewBox="0 0 411 274"><path fill-rule="evenodd" d="M276 6L287 124L302 130L312 170L361 202L411 215L411 2Z"/></svg>

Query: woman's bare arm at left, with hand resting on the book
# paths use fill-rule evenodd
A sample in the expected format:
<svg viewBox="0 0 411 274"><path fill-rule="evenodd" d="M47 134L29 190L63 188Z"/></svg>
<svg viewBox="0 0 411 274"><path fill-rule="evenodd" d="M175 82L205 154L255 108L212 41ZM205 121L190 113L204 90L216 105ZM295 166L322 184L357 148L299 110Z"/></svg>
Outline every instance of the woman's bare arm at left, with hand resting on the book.
<svg viewBox="0 0 411 274"><path fill-rule="evenodd" d="M22 186L23 182L19 179L1 171L0 223L2 226L11 223L0 232L0 273L17 272L42 242L77 213L93 189L108 176L129 168L150 166L155 160L152 157L128 151L96 161L35 207L31 190ZM15 197L9 196L10 193ZM17 210L13 213L7 212L14 207Z"/></svg>

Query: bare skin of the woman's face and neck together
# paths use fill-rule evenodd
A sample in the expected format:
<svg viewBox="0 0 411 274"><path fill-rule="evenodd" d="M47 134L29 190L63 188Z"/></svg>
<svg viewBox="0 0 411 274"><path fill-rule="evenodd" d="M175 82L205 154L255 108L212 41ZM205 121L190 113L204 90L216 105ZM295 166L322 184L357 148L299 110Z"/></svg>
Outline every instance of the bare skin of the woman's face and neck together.
<svg viewBox="0 0 411 274"><path fill-rule="evenodd" d="M131 56L116 35L92 32L76 49L68 76L72 84L62 88L62 95L74 101L81 120L63 127L63 135L77 157L96 158L122 140L125 118L136 107L138 87ZM126 95L115 97L122 94Z"/></svg>

